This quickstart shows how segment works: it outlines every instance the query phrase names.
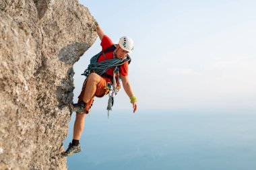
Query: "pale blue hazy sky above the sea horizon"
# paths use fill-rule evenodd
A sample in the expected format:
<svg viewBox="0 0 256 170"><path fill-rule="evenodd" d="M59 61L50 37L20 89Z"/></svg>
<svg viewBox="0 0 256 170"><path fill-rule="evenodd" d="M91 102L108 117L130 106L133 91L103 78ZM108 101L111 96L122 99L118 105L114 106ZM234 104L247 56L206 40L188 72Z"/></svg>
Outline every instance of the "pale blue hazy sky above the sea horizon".
<svg viewBox="0 0 256 170"><path fill-rule="evenodd" d="M79 1L117 43L135 42L129 80L142 110L256 112L256 1ZM99 39L75 64L75 97ZM108 97L92 112L106 111ZM122 90L113 110L130 110Z"/></svg>

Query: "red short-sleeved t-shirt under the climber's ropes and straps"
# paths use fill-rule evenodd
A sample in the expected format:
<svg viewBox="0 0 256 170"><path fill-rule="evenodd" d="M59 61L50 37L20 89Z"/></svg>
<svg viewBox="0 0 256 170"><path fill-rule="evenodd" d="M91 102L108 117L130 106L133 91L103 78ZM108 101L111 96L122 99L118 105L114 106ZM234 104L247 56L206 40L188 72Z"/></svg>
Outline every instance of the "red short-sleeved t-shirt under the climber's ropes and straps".
<svg viewBox="0 0 256 170"><path fill-rule="evenodd" d="M106 50L106 48L113 46L113 42L112 40L110 40L110 38L106 35L103 36L102 41L100 43L100 46L102 46L102 51ZM106 58L109 59L113 59L113 52L106 52L105 54ZM100 57L98 58L98 62L105 60L103 54L100 55ZM121 65L120 69L119 69L119 73L123 76L127 76L128 75L128 62L125 62L123 65ZM110 75L113 77L113 69L110 68L106 71L106 74ZM110 82L110 79L103 77L107 82Z"/></svg>

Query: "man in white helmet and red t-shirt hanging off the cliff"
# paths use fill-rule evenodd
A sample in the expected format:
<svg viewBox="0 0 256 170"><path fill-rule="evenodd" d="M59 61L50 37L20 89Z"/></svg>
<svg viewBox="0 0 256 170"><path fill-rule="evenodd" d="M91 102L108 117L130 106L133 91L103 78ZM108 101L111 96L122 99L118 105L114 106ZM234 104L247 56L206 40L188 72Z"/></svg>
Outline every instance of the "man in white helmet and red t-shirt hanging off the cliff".
<svg viewBox="0 0 256 170"><path fill-rule="evenodd" d="M137 99L133 95L128 79L128 64L131 60L128 53L133 50L133 40L123 36L120 38L119 44L113 44L112 40L104 34L100 26L97 26L96 29L101 40L102 51L98 56L96 55L90 60L91 63L84 73L87 78L84 81L78 102L71 105L71 110L76 112L76 117L73 128L73 140L69 143L67 151L62 153L66 157L82 151L79 138L84 129L84 118L90 111L94 96L103 97L108 94L108 111L111 110L113 93L116 94L120 89L119 78L123 83L123 89L125 89L125 92L130 97L133 113L137 110Z"/></svg>

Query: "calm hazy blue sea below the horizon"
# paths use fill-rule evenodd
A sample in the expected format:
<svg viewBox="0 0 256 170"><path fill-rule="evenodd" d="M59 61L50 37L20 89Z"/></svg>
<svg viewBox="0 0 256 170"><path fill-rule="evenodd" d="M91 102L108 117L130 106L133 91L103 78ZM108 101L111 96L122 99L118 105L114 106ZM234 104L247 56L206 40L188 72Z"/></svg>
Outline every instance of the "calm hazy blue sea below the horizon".
<svg viewBox="0 0 256 170"><path fill-rule="evenodd" d="M72 139L73 120L65 148ZM91 114L69 170L255 170L256 114Z"/></svg>

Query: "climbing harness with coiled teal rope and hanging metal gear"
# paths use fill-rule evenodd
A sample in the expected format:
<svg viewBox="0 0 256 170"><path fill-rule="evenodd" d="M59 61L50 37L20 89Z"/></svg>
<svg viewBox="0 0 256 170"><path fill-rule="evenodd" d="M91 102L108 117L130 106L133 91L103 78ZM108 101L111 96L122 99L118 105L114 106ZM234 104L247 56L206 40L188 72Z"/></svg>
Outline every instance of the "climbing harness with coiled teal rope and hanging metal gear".
<svg viewBox="0 0 256 170"><path fill-rule="evenodd" d="M130 63L131 58L127 54L124 58L113 58L113 59L107 59L105 54L106 52L113 52L117 47L115 45L110 46L103 52L99 52L95 56L92 56L90 59L90 65L88 65L88 68L84 71L82 75L88 77L90 73L96 73L102 77L106 77L111 80L111 82L108 82L106 84L106 93L108 93L108 106L106 110L108 110L108 118L109 118L109 111L112 110L112 106L114 104L114 93L117 95L117 92L121 88L120 85L120 77L119 77L119 67L123 65L125 62ZM105 60L97 62L98 58L103 55ZM110 68L113 68L113 77L111 75L106 74L106 71Z"/></svg>

